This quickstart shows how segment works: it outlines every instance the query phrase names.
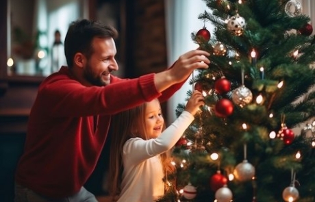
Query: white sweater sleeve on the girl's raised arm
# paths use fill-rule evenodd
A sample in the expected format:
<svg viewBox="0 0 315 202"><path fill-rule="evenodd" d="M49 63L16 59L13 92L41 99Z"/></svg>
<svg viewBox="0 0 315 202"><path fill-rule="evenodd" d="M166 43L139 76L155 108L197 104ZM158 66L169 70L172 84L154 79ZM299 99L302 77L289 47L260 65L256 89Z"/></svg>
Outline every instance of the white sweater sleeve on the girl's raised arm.
<svg viewBox="0 0 315 202"><path fill-rule="evenodd" d="M184 111L174 123L167 127L157 138L150 140L131 138L127 140L123 147L124 160L131 164L138 164L143 160L171 149L193 120L194 116Z"/></svg>

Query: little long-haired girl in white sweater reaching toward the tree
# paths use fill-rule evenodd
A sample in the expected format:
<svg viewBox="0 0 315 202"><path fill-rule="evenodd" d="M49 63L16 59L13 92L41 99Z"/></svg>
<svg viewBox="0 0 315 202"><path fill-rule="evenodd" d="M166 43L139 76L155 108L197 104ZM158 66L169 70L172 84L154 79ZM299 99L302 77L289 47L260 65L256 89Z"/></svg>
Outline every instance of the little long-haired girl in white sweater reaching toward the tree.
<svg viewBox="0 0 315 202"><path fill-rule="evenodd" d="M203 95L195 90L184 112L166 129L157 99L114 116L108 182L118 202L153 202L162 197L164 175L175 169L170 149L203 104Z"/></svg>

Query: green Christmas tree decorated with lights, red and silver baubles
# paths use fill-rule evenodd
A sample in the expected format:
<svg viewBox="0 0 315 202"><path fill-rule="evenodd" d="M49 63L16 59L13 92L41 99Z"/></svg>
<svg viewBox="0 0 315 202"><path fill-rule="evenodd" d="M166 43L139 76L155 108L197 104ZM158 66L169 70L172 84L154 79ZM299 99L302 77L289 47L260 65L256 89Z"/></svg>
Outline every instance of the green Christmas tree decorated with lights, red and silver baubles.
<svg viewBox="0 0 315 202"><path fill-rule="evenodd" d="M203 92L205 106L177 142L177 172L157 201L315 201L309 16L297 0L204 1L211 12L201 11L192 40L211 64L187 93Z"/></svg>

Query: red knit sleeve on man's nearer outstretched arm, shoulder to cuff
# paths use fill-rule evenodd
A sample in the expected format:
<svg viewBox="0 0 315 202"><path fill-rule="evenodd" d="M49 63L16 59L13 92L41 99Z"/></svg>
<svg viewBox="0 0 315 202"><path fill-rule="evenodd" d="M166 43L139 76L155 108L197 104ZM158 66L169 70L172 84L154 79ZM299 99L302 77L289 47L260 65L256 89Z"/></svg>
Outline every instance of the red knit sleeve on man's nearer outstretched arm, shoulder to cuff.
<svg viewBox="0 0 315 202"><path fill-rule="evenodd" d="M161 96L155 88L153 73L136 79L112 76L112 81L108 86L87 87L66 75L48 77L39 88L38 111L59 117L108 115Z"/></svg>

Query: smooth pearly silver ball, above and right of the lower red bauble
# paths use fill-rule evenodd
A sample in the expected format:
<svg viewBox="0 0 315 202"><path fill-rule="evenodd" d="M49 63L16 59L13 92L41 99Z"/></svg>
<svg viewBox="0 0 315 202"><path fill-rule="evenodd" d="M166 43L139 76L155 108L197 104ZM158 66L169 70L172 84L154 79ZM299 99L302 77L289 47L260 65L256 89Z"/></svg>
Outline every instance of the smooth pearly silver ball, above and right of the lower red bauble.
<svg viewBox="0 0 315 202"><path fill-rule="evenodd" d="M240 181L248 181L255 176L255 167L247 160L243 160L242 163L236 166L234 176Z"/></svg>

